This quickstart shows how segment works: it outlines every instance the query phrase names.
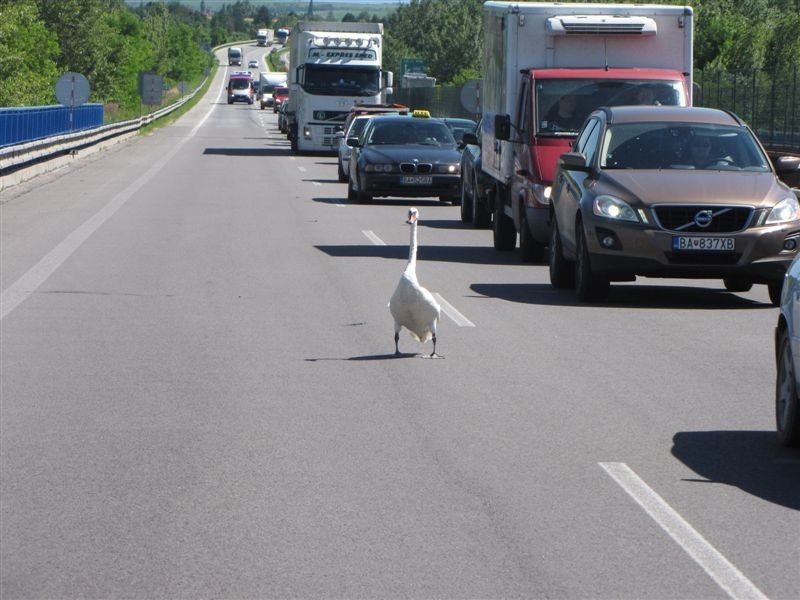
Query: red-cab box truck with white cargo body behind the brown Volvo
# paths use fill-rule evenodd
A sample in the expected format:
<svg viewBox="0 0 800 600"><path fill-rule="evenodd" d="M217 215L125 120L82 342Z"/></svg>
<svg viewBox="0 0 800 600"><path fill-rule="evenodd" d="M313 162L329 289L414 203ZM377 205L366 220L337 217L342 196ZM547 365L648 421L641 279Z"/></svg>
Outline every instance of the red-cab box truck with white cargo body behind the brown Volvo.
<svg viewBox="0 0 800 600"><path fill-rule="evenodd" d="M689 6L490 0L483 7L482 170L475 226L541 261L561 154L600 107L692 104Z"/></svg>

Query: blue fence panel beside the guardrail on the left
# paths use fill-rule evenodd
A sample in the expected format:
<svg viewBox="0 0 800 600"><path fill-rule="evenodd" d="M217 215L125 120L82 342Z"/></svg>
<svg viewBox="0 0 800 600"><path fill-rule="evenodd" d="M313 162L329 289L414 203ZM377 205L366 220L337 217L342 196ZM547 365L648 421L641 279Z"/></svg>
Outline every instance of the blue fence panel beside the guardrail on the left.
<svg viewBox="0 0 800 600"><path fill-rule="evenodd" d="M80 131L103 124L102 104L82 104L72 109L66 106L30 106L0 108L0 146L21 144L31 140Z"/></svg>

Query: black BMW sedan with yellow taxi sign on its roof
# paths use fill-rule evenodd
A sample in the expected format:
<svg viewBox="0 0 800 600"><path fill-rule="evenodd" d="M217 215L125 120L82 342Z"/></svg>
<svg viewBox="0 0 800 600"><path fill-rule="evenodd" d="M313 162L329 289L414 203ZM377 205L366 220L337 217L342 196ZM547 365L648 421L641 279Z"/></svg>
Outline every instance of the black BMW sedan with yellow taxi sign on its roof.
<svg viewBox="0 0 800 600"><path fill-rule="evenodd" d="M456 203L461 193L461 153L441 119L382 115L370 119L352 148L347 199L368 203L374 197L438 197Z"/></svg>

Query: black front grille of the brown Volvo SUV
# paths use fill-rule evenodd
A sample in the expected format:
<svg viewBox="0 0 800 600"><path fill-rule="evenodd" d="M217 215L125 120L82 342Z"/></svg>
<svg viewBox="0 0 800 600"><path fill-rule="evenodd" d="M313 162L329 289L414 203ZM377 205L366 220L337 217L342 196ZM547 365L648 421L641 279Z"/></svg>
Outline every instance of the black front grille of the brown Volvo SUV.
<svg viewBox="0 0 800 600"><path fill-rule="evenodd" d="M746 229L750 206L660 205L653 207L659 227L679 233L733 233Z"/></svg>

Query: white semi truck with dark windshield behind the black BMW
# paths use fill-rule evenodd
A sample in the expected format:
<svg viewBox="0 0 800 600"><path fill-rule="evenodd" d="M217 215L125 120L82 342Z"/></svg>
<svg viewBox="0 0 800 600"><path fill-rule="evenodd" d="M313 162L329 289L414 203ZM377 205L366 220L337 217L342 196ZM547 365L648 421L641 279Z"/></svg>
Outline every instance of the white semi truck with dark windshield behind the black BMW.
<svg viewBox="0 0 800 600"><path fill-rule="evenodd" d="M289 35L285 112L293 153L335 153L350 108L385 102L393 76L381 69L382 58L382 23L297 23Z"/></svg>

